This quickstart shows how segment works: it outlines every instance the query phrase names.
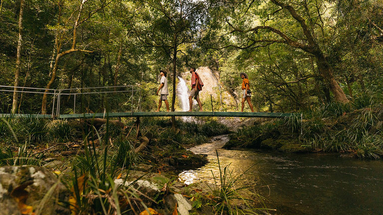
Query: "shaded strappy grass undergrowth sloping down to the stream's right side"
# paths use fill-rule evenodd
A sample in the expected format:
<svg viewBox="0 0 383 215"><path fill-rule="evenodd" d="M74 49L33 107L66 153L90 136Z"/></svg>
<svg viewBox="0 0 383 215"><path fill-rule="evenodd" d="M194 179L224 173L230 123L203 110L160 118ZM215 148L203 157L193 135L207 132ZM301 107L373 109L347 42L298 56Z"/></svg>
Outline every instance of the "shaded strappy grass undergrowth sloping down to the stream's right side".
<svg viewBox="0 0 383 215"><path fill-rule="evenodd" d="M351 153L361 159L383 157L382 93L366 93L348 104L322 105L304 111L303 116L303 121L297 114L256 123L238 129L236 136L257 137L268 133L267 138L274 138L274 142L285 138L286 142L295 142L307 151Z"/></svg>

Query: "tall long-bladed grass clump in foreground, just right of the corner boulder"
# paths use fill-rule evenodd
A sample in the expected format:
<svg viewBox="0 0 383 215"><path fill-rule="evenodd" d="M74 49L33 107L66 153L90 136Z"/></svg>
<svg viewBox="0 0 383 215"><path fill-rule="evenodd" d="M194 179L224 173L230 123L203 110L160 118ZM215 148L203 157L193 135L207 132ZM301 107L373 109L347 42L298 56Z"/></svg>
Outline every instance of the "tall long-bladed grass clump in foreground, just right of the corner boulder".
<svg viewBox="0 0 383 215"><path fill-rule="evenodd" d="M100 136L97 131L92 132ZM105 139L108 138L105 137ZM99 141L101 142L102 139L99 138ZM88 138L85 138L85 153L76 156L73 160L74 178L68 185L73 191L76 213L108 214L111 212L121 215L132 212L135 207L147 208L140 199L141 194L133 189L136 181L125 186L126 177L120 178L120 175L118 180L122 180L122 183L115 184L117 166L122 166L123 170L127 170L126 174L129 174L129 168L137 160L137 156L131 151L133 149L131 142L118 139L116 144L119 147L117 153L109 156L108 144L101 144L104 148L98 151L94 141L90 144Z"/></svg>

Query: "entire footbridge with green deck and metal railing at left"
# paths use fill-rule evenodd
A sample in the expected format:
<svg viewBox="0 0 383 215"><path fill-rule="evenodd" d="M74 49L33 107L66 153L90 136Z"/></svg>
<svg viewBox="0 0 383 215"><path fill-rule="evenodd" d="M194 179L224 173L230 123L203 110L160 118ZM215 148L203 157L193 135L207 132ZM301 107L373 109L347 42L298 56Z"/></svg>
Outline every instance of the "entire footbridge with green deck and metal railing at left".
<svg viewBox="0 0 383 215"><path fill-rule="evenodd" d="M280 113L280 112L222 112L222 111L170 111L170 112L151 112L142 111L141 89L137 86L107 86L107 87L90 87L90 88L72 88L72 89L43 89L30 87L13 87L0 86L0 102L2 107L0 110L9 112L11 107L11 95L14 92L20 94L18 112L37 112L40 106L42 95L47 95L48 103L46 110L50 114L10 114L0 113L0 117L34 117L34 118L51 118L51 119L73 119L73 118L106 118L106 117L153 117L153 116L210 116L210 117L265 117L265 118L284 118L299 117L301 113ZM24 97L23 97L24 95ZM116 98L120 100L116 100ZM24 98L22 101L21 99ZM210 96L211 99L211 96ZM6 104L8 103L8 104ZM21 103L25 107L31 107L28 110L21 110ZM117 107L114 109L105 108L105 106ZM34 107L34 108L33 108ZM66 111L65 109L69 109ZM97 113L89 112L89 109L97 111ZM211 109L213 102L211 100ZM76 113L77 110L77 113ZM71 112L72 114L66 114ZM80 113L78 113L80 112Z"/></svg>

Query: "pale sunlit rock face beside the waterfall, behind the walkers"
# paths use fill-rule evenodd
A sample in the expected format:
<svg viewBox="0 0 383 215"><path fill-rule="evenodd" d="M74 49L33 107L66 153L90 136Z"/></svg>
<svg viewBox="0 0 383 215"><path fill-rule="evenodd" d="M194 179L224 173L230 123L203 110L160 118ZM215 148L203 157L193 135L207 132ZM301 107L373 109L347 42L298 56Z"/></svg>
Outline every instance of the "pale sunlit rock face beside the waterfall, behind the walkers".
<svg viewBox="0 0 383 215"><path fill-rule="evenodd" d="M220 108L232 109L236 108L234 98L223 89L222 83L220 83L220 77L218 72L211 71L208 67L199 67L196 72L203 82L202 91L199 93L199 97L202 103L210 104L210 95L213 98L214 111L219 111ZM186 81L187 87L191 88L191 73L182 73L182 78ZM219 104L221 104L221 107ZM210 105L208 107L211 107Z"/></svg>

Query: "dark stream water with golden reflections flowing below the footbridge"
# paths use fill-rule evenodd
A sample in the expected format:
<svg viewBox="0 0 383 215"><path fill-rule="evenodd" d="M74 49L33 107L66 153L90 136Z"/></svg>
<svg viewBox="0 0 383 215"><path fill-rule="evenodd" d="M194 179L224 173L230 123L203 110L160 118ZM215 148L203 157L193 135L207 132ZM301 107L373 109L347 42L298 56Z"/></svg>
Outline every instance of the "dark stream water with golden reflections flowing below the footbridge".
<svg viewBox="0 0 383 215"><path fill-rule="evenodd" d="M179 174L191 184L213 183L230 164L233 175L252 167L239 183L257 188L277 215L383 215L383 162L342 158L339 154L288 154L221 149L226 135L190 150L206 154L209 163Z"/></svg>

